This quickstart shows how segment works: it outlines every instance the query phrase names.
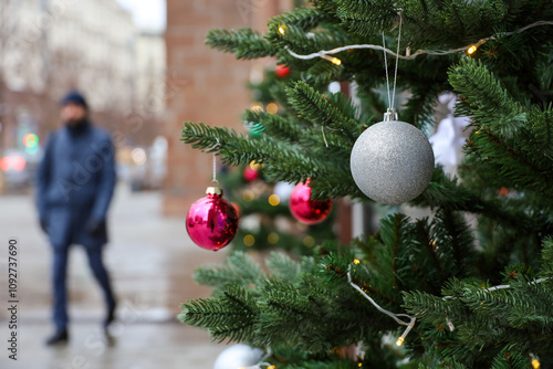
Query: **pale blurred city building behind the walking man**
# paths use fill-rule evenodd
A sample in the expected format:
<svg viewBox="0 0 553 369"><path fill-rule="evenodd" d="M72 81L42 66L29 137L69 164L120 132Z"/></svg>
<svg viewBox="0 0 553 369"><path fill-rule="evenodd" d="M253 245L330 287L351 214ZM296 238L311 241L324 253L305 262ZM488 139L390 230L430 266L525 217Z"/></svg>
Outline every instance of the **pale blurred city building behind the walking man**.
<svg viewBox="0 0 553 369"><path fill-rule="evenodd" d="M161 131L165 55L163 32L138 28L116 0L0 1L0 190L29 183L70 88L135 165L132 151L147 154Z"/></svg>

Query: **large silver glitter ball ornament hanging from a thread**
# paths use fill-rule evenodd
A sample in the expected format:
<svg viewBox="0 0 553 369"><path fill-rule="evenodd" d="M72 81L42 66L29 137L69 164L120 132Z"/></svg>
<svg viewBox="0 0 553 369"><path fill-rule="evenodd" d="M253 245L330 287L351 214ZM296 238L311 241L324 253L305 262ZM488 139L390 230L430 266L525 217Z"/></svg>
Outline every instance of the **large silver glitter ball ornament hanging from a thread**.
<svg viewBox="0 0 553 369"><path fill-rule="evenodd" d="M351 156L355 184L368 198L398 204L415 199L430 182L432 147L416 127L386 113L355 141Z"/></svg>

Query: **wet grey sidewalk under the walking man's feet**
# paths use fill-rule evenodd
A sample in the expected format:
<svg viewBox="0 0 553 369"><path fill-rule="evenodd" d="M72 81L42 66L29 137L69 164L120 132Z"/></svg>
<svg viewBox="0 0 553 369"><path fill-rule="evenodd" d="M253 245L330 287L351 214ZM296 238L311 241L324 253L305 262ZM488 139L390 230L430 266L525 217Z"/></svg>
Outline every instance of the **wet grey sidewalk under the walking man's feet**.
<svg viewBox="0 0 553 369"><path fill-rule="evenodd" d="M111 243L105 252L119 305L113 346L100 329L104 307L85 253L70 256L70 344L49 348L50 246L36 223L33 199L0 197L0 368L24 369L210 369L228 346L176 320L179 304L208 297L194 283L196 266L220 263L226 251L208 252L191 243L184 219L160 215L160 193L132 193L118 186L111 209ZM8 339L8 240L18 239L18 355L10 360Z"/></svg>

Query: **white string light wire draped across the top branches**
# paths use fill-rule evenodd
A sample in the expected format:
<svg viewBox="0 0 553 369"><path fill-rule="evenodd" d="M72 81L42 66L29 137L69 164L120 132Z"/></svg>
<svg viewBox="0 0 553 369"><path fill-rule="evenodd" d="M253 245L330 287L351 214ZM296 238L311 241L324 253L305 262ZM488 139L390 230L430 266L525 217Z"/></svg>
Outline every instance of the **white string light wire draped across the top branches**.
<svg viewBox="0 0 553 369"><path fill-rule="evenodd" d="M476 43L471 43L471 44L462 46L462 48L457 48L457 49L451 49L451 50L417 50L415 53L407 53L407 55L399 54L399 50L397 52L394 52L389 49L386 49L385 46L373 45L373 44L354 44L354 45L341 46L341 48L336 48L336 49L332 49L332 50L322 50L320 52L312 53L312 54L305 54L305 55L298 54L298 53L293 52L292 50L290 50L289 46L284 46L284 49L290 53L290 55L294 56L295 59L300 59L300 60L311 60L311 59L315 59L315 57L322 57L322 55L332 55L332 54L336 54L336 53L340 53L340 52L343 52L346 50L355 50L355 49L371 49L371 50L376 50L376 51L384 51L385 53L387 53L392 56L395 56L397 59L400 59L400 60L414 60L419 55L442 56L442 55L455 54L455 53L459 53L459 52L466 52L470 48L478 49L480 45L482 45L487 41L495 40L500 36L522 33L522 32L530 30L532 28L542 27L542 25L553 25L553 21L538 21L538 22L531 23L529 25L525 25L517 31L500 32L498 34L491 35L491 36L486 38L486 39L481 39L480 41L478 41ZM399 45L399 43L398 43L398 45Z"/></svg>

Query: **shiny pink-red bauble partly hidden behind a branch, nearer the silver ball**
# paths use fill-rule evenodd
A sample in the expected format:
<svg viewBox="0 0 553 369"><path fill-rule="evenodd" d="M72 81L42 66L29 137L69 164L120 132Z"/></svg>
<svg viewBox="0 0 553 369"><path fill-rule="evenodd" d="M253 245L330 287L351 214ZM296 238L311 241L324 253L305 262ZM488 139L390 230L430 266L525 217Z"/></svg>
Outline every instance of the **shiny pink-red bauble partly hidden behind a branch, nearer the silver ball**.
<svg viewBox="0 0 553 369"><path fill-rule="evenodd" d="M295 219L305 224L317 224L331 212L332 200L311 200L310 180L305 184L298 183L290 196L290 211Z"/></svg>

